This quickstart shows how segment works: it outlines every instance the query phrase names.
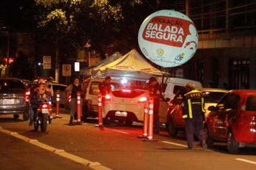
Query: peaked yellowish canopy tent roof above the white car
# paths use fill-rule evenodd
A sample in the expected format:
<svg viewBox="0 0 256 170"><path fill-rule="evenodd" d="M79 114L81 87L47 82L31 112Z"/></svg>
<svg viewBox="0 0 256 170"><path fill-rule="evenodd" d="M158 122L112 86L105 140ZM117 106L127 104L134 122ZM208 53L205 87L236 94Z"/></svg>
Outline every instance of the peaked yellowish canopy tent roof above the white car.
<svg viewBox="0 0 256 170"><path fill-rule="evenodd" d="M114 60L110 64L103 65L98 69L91 71L93 76L115 76L115 77L133 77L148 79L151 76L162 76L168 74L153 67L144 59L135 49Z"/></svg>

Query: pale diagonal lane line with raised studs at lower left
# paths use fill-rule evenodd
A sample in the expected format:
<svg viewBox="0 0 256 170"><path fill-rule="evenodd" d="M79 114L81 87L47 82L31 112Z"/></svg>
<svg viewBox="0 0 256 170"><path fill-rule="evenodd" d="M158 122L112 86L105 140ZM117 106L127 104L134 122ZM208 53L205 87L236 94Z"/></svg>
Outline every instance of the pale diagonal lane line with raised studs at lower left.
<svg viewBox="0 0 256 170"><path fill-rule="evenodd" d="M4 129L3 127L0 127L0 132L6 133L8 135L11 135L13 137L16 137L18 139L24 140L25 142L28 142L29 144L36 145L42 149L48 150L54 154L57 154L62 157L66 157L67 159L78 162L79 164L83 164L84 166L90 167L91 169L95 170L112 170L108 167L102 166L100 162L92 162L87 159L83 159L82 157L75 156L73 154L69 154L63 149L57 149L55 147L51 147L50 145L46 145L42 142L39 142L37 139L30 139L28 137L25 137L23 135L20 135L17 132L11 132L9 130Z"/></svg>

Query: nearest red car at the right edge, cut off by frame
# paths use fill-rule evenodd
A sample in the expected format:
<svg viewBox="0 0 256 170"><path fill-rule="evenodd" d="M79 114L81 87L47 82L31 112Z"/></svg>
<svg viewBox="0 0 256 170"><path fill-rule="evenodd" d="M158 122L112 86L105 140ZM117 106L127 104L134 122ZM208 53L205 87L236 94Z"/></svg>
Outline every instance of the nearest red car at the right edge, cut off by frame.
<svg viewBox="0 0 256 170"><path fill-rule="evenodd" d="M256 90L232 90L211 110L204 126L207 145L227 142L228 152L256 146Z"/></svg>

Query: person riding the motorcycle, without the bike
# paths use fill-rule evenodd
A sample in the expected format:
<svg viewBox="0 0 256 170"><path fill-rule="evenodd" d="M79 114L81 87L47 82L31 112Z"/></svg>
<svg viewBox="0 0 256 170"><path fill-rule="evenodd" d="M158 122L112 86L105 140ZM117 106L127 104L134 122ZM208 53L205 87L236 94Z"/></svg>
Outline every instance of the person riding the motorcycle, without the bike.
<svg viewBox="0 0 256 170"><path fill-rule="evenodd" d="M50 92L46 91L45 84L39 83L37 86L37 91L32 93L30 96L30 126L32 126L33 122L35 121L35 110L37 109L37 106L40 105L40 103L43 101L51 101L51 96Z"/></svg>

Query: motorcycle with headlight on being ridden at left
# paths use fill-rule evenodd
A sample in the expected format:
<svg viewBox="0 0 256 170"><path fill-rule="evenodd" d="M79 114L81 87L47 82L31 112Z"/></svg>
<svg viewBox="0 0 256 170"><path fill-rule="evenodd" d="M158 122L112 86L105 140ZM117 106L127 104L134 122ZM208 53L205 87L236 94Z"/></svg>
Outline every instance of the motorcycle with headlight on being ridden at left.
<svg viewBox="0 0 256 170"><path fill-rule="evenodd" d="M39 126L41 132L45 132L47 129L47 122L49 115L49 103L42 102L40 105L37 106L37 111L35 113L35 122L34 122L34 129L35 131L38 130Z"/></svg>

